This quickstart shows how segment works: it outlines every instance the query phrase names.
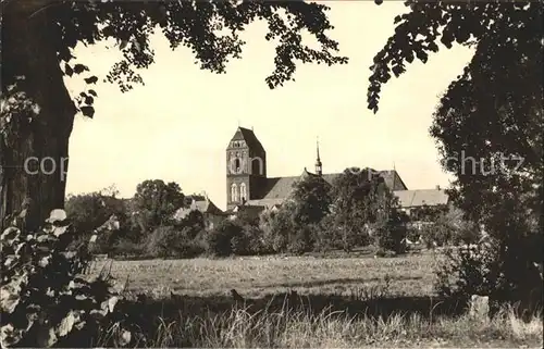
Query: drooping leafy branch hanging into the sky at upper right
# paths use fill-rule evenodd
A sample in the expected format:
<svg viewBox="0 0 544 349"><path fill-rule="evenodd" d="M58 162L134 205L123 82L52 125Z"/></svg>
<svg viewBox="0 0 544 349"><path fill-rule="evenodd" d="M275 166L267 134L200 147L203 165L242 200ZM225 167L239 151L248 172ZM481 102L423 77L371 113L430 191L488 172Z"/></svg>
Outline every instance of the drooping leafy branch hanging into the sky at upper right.
<svg viewBox="0 0 544 349"><path fill-rule="evenodd" d="M390 80L391 72L396 77L404 73L405 70L400 68L401 62L412 62L416 54L425 63L429 51L438 51L438 40L448 49L454 42L477 45L477 51L483 53L485 48L480 42L487 39L507 42L515 38L520 29L532 21L540 7L539 3L530 1L520 5L511 2L461 3L422 0L407 1L406 5L410 7L411 12L395 17L395 34L375 54L374 64L371 66L368 108L374 113L378 112L381 86ZM426 46L415 41L416 37L422 37Z"/></svg>

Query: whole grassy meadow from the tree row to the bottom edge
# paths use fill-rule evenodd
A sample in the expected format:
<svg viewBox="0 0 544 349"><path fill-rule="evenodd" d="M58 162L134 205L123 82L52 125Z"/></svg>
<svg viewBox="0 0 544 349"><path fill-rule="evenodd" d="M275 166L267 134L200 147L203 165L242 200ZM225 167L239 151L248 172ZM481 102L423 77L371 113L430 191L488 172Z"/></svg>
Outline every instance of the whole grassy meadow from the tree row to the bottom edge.
<svg viewBox="0 0 544 349"><path fill-rule="evenodd" d="M95 272L111 267L116 287L138 298L135 308L145 314L138 346L542 347L540 317L524 323L505 309L478 320L466 304L440 299L433 290L440 258L426 251L102 261Z"/></svg>

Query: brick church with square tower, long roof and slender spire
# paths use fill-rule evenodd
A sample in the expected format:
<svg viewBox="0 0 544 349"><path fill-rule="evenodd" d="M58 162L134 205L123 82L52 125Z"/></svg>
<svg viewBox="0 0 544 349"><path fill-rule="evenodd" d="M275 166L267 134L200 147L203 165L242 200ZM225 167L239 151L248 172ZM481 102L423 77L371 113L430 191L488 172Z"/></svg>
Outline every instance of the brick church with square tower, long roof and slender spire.
<svg viewBox="0 0 544 349"><path fill-rule="evenodd" d="M235 213L249 209L259 211L279 208L293 191L293 185L305 176L321 176L332 184L341 173L323 173L317 148L314 172L305 167L300 175L268 177L267 151L252 129L238 127L226 148L226 208ZM408 190L396 170L378 171L387 187L399 199L403 209L409 211L421 205L447 204L448 198L440 188Z"/></svg>

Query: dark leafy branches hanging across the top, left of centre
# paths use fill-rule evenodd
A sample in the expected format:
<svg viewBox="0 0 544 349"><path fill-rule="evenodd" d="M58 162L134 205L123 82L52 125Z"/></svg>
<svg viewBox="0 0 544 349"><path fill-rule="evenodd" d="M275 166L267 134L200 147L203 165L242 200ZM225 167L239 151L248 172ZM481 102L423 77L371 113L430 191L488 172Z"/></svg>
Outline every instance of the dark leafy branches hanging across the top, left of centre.
<svg viewBox="0 0 544 349"><path fill-rule="evenodd" d="M280 16L283 10L287 16ZM78 2L71 8L50 9L57 14L64 36L61 47L75 47L77 41L92 43L97 40L114 38L123 52L108 74L108 80L120 86L122 91L132 89L132 84L141 84L134 67L143 68L153 63L154 52L150 48L149 36L157 25L170 41L172 48L184 45L193 50L201 67L223 73L232 58L239 58L242 41L237 34L255 20L269 23L271 37L280 39L274 60L275 70L265 82L271 87L282 85L294 77L295 61L343 64L347 58L334 54L337 42L326 36L332 26L326 7L302 1L290 2ZM101 24L108 25L100 27ZM219 34L222 28L222 34ZM316 37L320 47L306 46L299 32L307 29ZM226 34L228 33L228 34ZM75 74L88 68L83 64L73 67ZM71 73L72 74L72 73Z"/></svg>

